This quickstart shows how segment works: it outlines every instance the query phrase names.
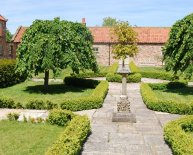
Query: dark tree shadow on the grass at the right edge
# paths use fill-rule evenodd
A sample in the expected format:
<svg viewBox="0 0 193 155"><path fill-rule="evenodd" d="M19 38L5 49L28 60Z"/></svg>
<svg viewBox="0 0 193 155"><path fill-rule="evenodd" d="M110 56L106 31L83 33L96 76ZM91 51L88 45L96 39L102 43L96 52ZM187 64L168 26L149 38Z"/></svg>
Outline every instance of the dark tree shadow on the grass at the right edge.
<svg viewBox="0 0 193 155"><path fill-rule="evenodd" d="M168 93L175 93L178 95L193 95L193 87L185 87L185 88L178 88L178 89L167 89L164 90L163 92L168 92Z"/></svg>

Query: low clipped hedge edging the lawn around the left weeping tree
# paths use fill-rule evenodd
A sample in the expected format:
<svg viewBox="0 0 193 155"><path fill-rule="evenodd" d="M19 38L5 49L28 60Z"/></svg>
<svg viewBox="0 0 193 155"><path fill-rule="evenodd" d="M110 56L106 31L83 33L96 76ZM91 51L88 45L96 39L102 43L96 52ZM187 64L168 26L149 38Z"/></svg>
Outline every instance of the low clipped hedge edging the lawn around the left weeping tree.
<svg viewBox="0 0 193 155"><path fill-rule="evenodd" d="M80 111L80 110L96 109L102 106L102 103L108 91L109 85L107 81L98 82L96 80L80 79L75 77L67 77L67 79L68 79L67 84L69 85L75 85L75 83L73 83L74 81L76 81L76 84L78 84L78 80L80 80L78 84L79 86L81 86L81 84L83 83L86 83L86 81L89 81L88 85L90 84L91 87L96 85L96 83L98 83L98 85L96 86L96 88L94 89L93 93L90 96L78 97L74 99L65 99L60 104L52 103L51 101L32 100L28 102L25 106L23 106L21 103L15 103L14 100L2 96L0 97L0 108L48 109L48 110L54 108L62 108L71 111Z"/></svg>

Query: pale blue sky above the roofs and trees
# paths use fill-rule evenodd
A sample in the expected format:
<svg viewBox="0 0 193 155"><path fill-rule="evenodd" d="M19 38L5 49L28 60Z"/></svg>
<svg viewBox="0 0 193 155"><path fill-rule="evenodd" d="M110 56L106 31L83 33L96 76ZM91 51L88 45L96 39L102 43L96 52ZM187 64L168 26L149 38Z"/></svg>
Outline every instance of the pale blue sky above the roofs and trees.
<svg viewBox="0 0 193 155"><path fill-rule="evenodd" d="M193 12L193 0L1 0L0 14L15 33L18 26L30 26L35 19L81 21L101 26L104 17L127 20L137 26L171 26Z"/></svg>

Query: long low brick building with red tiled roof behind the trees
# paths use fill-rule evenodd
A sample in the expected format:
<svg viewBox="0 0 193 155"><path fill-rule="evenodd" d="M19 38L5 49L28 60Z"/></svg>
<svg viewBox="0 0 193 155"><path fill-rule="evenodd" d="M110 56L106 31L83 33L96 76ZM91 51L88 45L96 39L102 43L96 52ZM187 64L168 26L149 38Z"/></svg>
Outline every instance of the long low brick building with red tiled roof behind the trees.
<svg viewBox="0 0 193 155"><path fill-rule="evenodd" d="M85 19L83 20L85 23ZM16 48L27 27L20 26L13 37L13 57L15 58ZM133 27L138 34L138 54L134 57L138 65L162 65L162 50L168 39L170 28L162 27ZM97 62L100 65L111 65L115 60L112 55L112 44L109 27L89 27L94 38L93 50Z"/></svg>

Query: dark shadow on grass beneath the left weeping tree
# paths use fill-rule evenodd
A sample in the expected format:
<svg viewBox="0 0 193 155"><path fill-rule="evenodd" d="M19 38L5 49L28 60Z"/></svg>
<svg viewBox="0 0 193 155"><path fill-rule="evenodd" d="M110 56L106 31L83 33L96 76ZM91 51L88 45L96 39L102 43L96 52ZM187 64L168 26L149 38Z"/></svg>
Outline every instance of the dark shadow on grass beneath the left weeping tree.
<svg viewBox="0 0 193 155"><path fill-rule="evenodd" d="M45 90L43 85L28 86L24 90L28 93L34 94L64 94L67 92L84 92L87 88L67 86L65 84L52 84Z"/></svg>

